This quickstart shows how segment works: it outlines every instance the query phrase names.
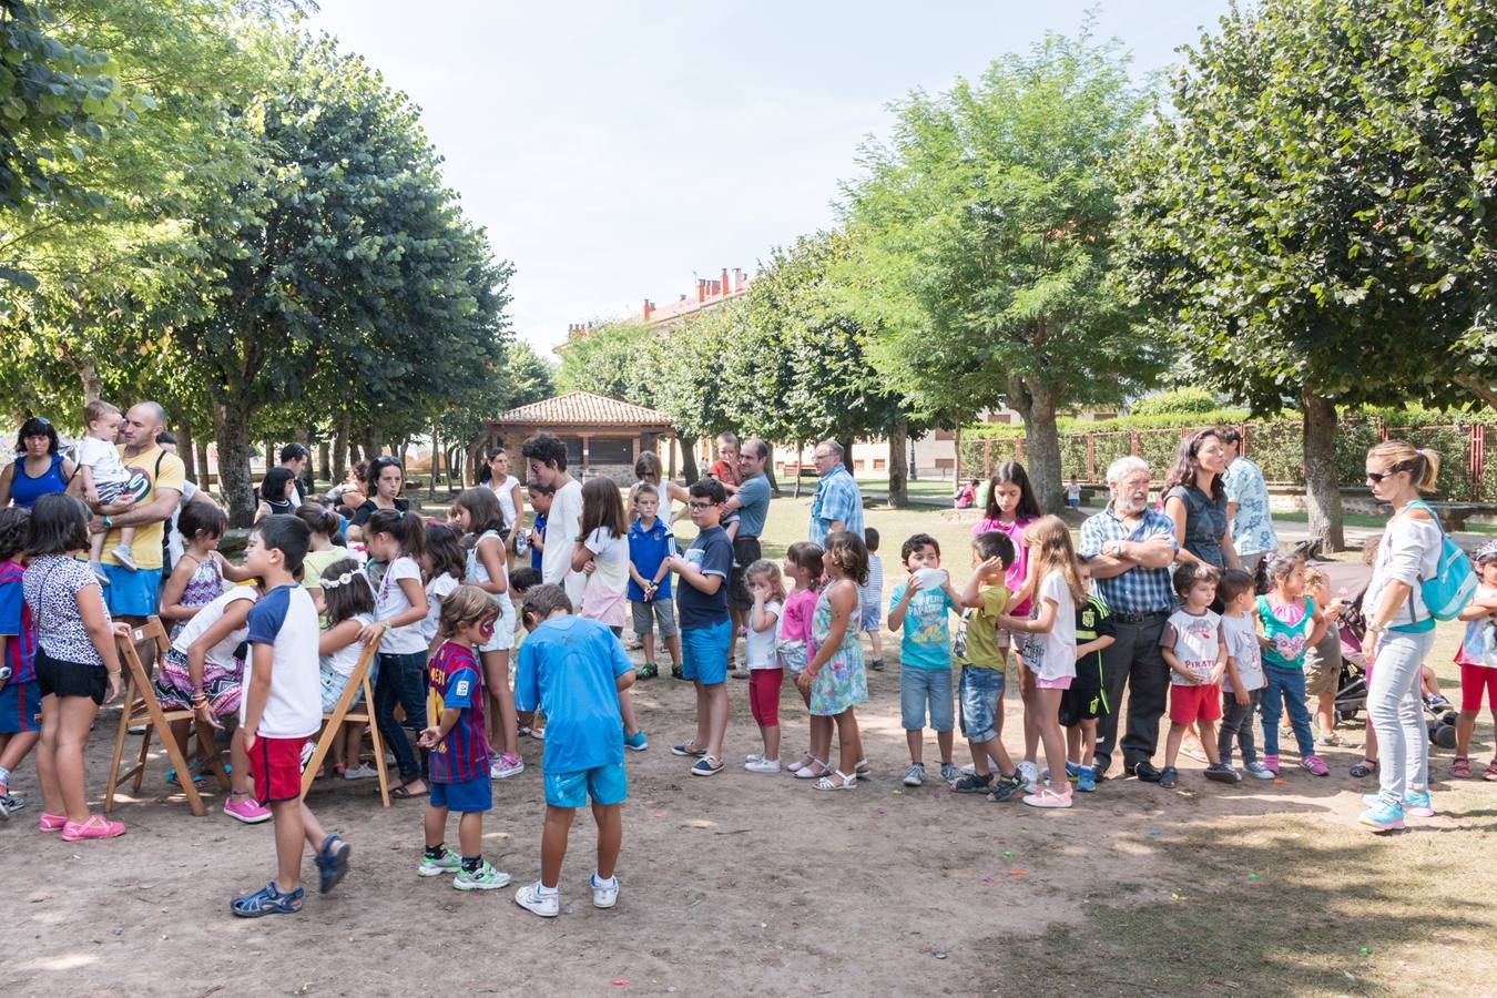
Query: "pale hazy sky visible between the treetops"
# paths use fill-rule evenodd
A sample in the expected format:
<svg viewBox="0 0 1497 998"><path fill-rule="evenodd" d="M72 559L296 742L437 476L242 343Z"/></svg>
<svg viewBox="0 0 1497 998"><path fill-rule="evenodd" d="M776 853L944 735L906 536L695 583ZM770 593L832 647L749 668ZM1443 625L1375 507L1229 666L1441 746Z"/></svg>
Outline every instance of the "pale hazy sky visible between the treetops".
<svg viewBox="0 0 1497 998"><path fill-rule="evenodd" d="M422 108L464 211L515 265L515 335L638 316L829 227L889 103L948 90L1046 31L1118 37L1144 75L1226 0L320 0Z"/></svg>

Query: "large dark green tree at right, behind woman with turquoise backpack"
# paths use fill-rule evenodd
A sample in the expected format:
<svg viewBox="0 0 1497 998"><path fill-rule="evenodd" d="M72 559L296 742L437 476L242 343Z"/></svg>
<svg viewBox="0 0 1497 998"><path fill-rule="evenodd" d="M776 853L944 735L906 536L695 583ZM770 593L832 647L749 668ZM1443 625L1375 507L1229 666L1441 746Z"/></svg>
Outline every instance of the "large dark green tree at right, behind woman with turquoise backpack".
<svg viewBox="0 0 1497 998"><path fill-rule="evenodd" d="M1497 398L1497 7L1268 0L1184 52L1121 169L1126 284L1217 388L1301 405L1335 551L1337 407Z"/></svg>

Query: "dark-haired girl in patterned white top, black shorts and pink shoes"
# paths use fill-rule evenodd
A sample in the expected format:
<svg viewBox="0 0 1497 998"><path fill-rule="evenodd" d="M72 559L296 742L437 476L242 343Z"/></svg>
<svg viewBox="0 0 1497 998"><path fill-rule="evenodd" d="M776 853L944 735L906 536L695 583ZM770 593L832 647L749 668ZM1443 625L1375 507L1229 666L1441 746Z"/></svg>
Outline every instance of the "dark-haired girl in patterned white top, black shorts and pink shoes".
<svg viewBox="0 0 1497 998"><path fill-rule="evenodd" d="M37 827L61 830L69 842L124 835L124 826L90 814L84 796L84 748L99 706L120 696L120 654L99 579L78 555L88 551L88 509L54 492L31 506L27 525L31 564L22 576L36 621L36 681L42 694L42 741L36 777L42 784Z"/></svg>

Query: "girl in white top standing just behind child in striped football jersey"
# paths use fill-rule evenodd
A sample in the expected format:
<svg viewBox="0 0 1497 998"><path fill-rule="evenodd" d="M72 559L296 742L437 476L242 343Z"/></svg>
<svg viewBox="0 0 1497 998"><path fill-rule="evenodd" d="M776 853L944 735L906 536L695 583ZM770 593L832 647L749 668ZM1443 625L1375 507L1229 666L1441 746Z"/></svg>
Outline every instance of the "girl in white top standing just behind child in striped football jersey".
<svg viewBox="0 0 1497 998"><path fill-rule="evenodd" d="M490 777L504 780L525 771L525 763L519 757L519 717L515 714L515 694L509 688L509 651L515 646L515 604L509 599L509 572L504 569L504 542L500 537L504 513L493 489L478 486L464 489L458 495L452 515L466 534L469 584L488 593L488 599L499 604L494 633L478 646L478 652L484 663L484 685L499 708L490 720L491 744L499 745Z"/></svg>

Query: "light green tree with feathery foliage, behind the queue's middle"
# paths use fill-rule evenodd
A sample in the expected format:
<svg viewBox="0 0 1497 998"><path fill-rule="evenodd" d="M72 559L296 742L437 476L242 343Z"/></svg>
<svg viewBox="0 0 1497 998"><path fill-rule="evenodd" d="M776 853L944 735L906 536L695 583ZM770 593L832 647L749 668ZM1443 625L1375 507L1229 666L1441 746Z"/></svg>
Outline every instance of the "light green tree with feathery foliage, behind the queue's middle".
<svg viewBox="0 0 1497 998"><path fill-rule="evenodd" d="M910 94L844 186L849 286L876 362L916 413L1018 410L1048 510L1061 506L1057 408L1117 401L1160 365L1115 289L1105 169L1147 99L1117 43L1048 36L975 82Z"/></svg>

